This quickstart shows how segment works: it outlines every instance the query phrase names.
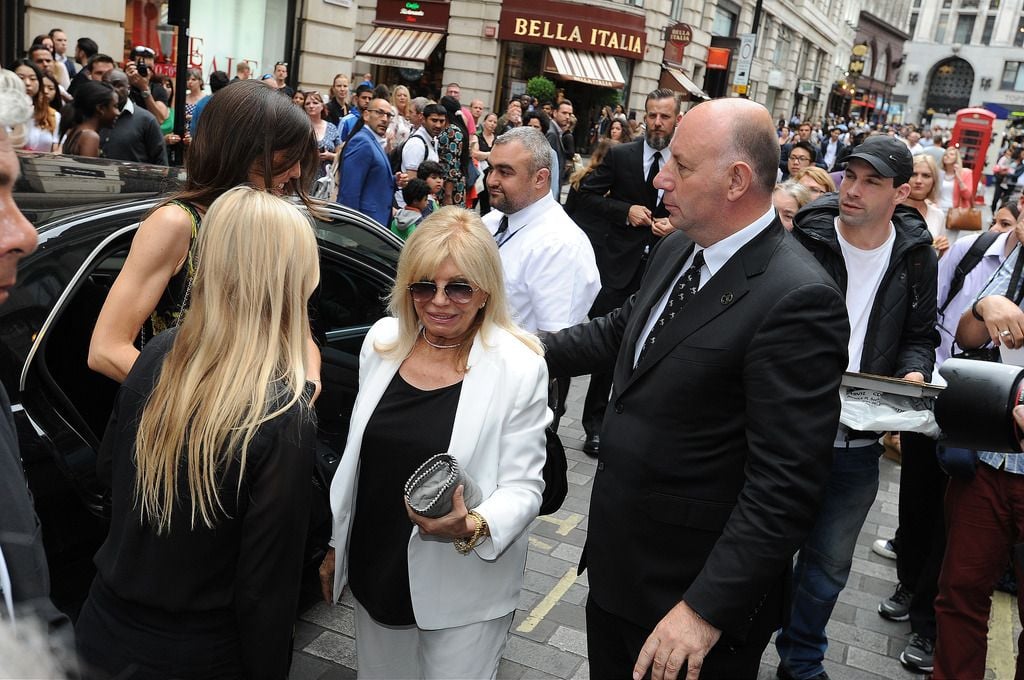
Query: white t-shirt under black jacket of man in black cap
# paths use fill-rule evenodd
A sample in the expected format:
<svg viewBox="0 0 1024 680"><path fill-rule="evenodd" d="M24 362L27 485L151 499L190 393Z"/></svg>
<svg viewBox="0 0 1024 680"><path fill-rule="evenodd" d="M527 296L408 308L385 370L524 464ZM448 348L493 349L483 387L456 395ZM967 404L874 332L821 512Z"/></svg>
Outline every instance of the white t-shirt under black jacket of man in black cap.
<svg viewBox="0 0 1024 680"><path fill-rule="evenodd" d="M896 228L889 222L889 238L886 242L872 250L861 250L843 238L837 217L836 237L846 261L846 312L850 316L850 363L847 371L860 371L867 322L871 316L871 307L874 306L874 296L882 284L882 277L892 257Z"/></svg>

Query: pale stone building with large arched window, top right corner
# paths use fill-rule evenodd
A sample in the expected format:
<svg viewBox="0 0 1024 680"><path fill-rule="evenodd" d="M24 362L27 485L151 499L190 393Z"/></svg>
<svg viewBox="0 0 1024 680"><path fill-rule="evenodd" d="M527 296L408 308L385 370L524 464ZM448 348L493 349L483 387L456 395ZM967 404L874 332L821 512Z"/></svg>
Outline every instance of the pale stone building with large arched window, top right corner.
<svg viewBox="0 0 1024 680"><path fill-rule="evenodd" d="M906 62L895 94L906 120L951 127L983 107L1002 124L1024 118L1024 2L912 0Z"/></svg>

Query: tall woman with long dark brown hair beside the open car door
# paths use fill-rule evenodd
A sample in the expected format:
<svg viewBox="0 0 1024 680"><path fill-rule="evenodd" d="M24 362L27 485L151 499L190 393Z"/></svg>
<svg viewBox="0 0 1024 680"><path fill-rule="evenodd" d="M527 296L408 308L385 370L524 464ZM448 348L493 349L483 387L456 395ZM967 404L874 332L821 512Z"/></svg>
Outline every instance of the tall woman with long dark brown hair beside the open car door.
<svg viewBox="0 0 1024 680"><path fill-rule="evenodd" d="M211 98L185 158L184 186L139 226L106 296L89 345L89 368L123 382L138 358L137 344L179 323L188 304L202 216L215 199L252 184L298 196L312 208L307 187L317 160L309 117L290 98L255 80L231 83ZM319 354L311 337L308 349L309 375L318 379Z"/></svg>

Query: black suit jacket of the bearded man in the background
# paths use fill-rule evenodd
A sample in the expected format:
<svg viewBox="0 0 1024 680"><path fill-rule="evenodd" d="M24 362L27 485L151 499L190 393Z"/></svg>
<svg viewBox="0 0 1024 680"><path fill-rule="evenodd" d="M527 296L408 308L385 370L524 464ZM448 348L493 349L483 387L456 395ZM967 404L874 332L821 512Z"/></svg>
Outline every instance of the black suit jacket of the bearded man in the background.
<svg viewBox="0 0 1024 680"><path fill-rule="evenodd" d="M655 207L643 171L643 143L638 139L613 146L604 163L580 184L580 207L590 219L600 220L584 230L597 244L601 283L615 290L630 287L644 252L657 241L649 226L631 226L627 217L631 206L647 206L651 211Z"/></svg>

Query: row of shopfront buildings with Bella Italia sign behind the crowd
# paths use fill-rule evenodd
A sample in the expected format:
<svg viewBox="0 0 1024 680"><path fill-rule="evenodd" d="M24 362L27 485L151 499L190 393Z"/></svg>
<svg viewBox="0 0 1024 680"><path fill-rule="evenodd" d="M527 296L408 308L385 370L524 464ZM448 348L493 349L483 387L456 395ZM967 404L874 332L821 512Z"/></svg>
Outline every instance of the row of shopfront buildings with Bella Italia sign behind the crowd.
<svg viewBox="0 0 1024 680"><path fill-rule="evenodd" d="M60 27L118 59L145 44L158 52L158 70L174 70L168 3L181 0L13 2L22 20L2 29L4 58ZM414 95L438 96L458 82L464 101L496 110L543 75L573 100L578 117L611 103L642 116L646 93L664 86L689 100L749 96L776 119L881 120L899 110L894 87L907 96L897 76L908 22L925 31L941 13L922 2L763 0L758 11L755 0L194 0L188 65L208 77L245 60L258 77L288 61L293 84L322 91L336 74L359 82L369 73ZM1000 16L1020 14L1004 3ZM1001 24L991 33L1012 40ZM1000 75L993 83L1009 78Z"/></svg>

